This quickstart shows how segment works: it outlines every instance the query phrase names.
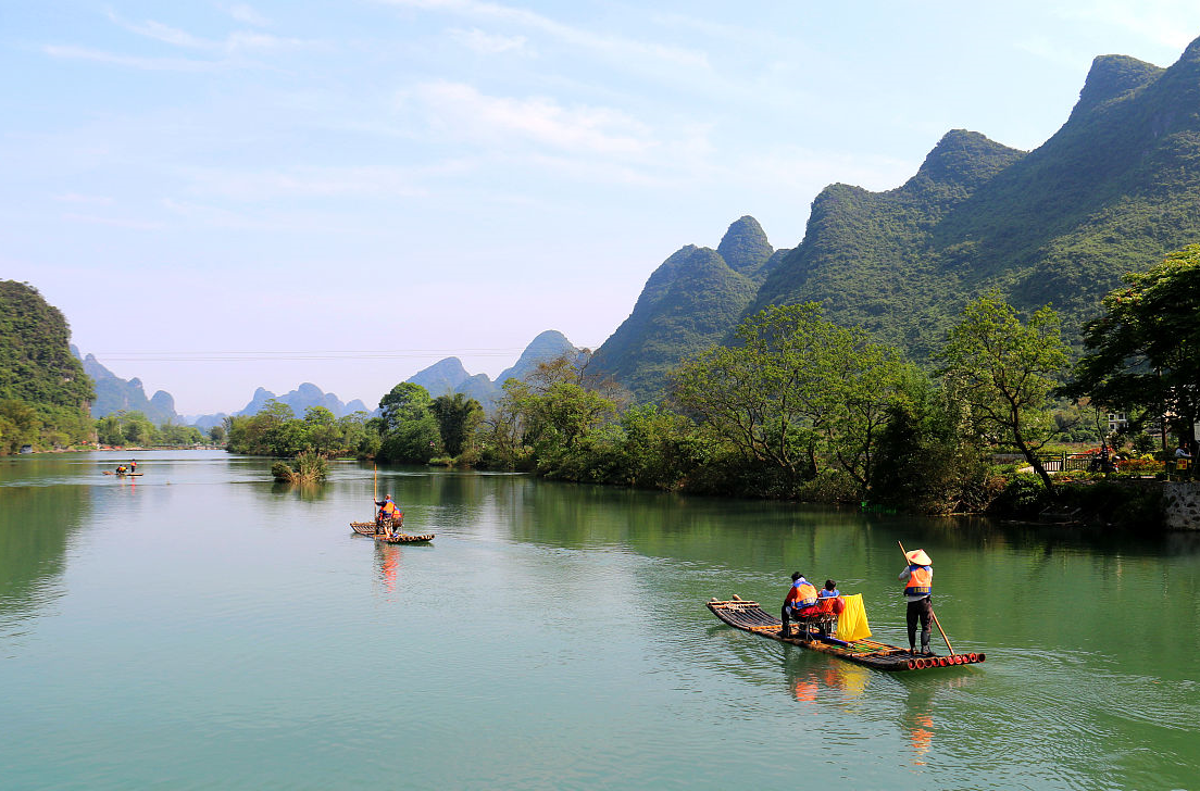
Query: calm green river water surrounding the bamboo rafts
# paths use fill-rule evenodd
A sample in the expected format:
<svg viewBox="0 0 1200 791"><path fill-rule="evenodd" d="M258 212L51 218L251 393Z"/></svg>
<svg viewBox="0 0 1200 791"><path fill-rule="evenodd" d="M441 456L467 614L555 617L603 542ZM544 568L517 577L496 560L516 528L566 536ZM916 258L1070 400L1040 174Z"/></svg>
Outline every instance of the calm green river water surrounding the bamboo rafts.
<svg viewBox="0 0 1200 791"><path fill-rule="evenodd" d="M379 473L0 459L4 789L1200 789L1200 540ZM955 649L887 675L720 624L793 570L906 642L896 540ZM935 634L935 642L937 636Z"/></svg>

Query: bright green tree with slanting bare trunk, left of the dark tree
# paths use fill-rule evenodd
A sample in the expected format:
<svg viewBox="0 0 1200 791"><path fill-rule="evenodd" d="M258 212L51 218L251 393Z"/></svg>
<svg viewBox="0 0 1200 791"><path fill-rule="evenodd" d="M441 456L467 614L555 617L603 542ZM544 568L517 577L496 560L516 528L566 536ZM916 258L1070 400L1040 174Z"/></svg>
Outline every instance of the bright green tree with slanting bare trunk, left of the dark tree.
<svg viewBox="0 0 1200 791"><path fill-rule="evenodd" d="M947 386L968 405L977 429L996 443L1012 441L1048 490L1054 484L1037 451L1061 431L1048 411L1067 367L1060 330L1049 305L1022 324L994 290L962 308L941 352Z"/></svg>

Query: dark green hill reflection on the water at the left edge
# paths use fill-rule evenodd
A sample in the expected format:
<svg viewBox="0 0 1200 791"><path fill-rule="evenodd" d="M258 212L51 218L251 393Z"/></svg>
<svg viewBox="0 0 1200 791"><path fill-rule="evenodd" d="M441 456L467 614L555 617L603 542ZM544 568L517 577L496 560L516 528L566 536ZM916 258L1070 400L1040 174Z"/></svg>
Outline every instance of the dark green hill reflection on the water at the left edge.
<svg viewBox="0 0 1200 791"><path fill-rule="evenodd" d="M70 468L65 461L38 460L38 469ZM8 486L0 508L0 639L19 628L26 611L46 606L58 595L56 582L66 570L71 534L91 514L90 486ZM12 616L18 621L13 622Z"/></svg>

